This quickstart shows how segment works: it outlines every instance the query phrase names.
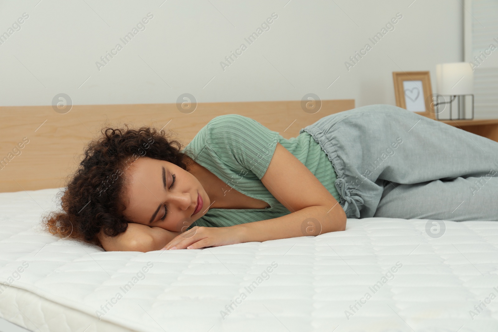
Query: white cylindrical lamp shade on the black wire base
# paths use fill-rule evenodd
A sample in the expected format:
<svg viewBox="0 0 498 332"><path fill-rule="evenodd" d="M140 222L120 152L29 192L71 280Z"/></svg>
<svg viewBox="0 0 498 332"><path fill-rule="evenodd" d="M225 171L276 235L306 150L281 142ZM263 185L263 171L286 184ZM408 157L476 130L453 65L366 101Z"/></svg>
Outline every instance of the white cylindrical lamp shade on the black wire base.
<svg viewBox="0 0 498 332"><path fill-rule="evenodd" d="M437 92L440 95L470 95L474 93L474 72L468 62L436 65Z"/></svg>

